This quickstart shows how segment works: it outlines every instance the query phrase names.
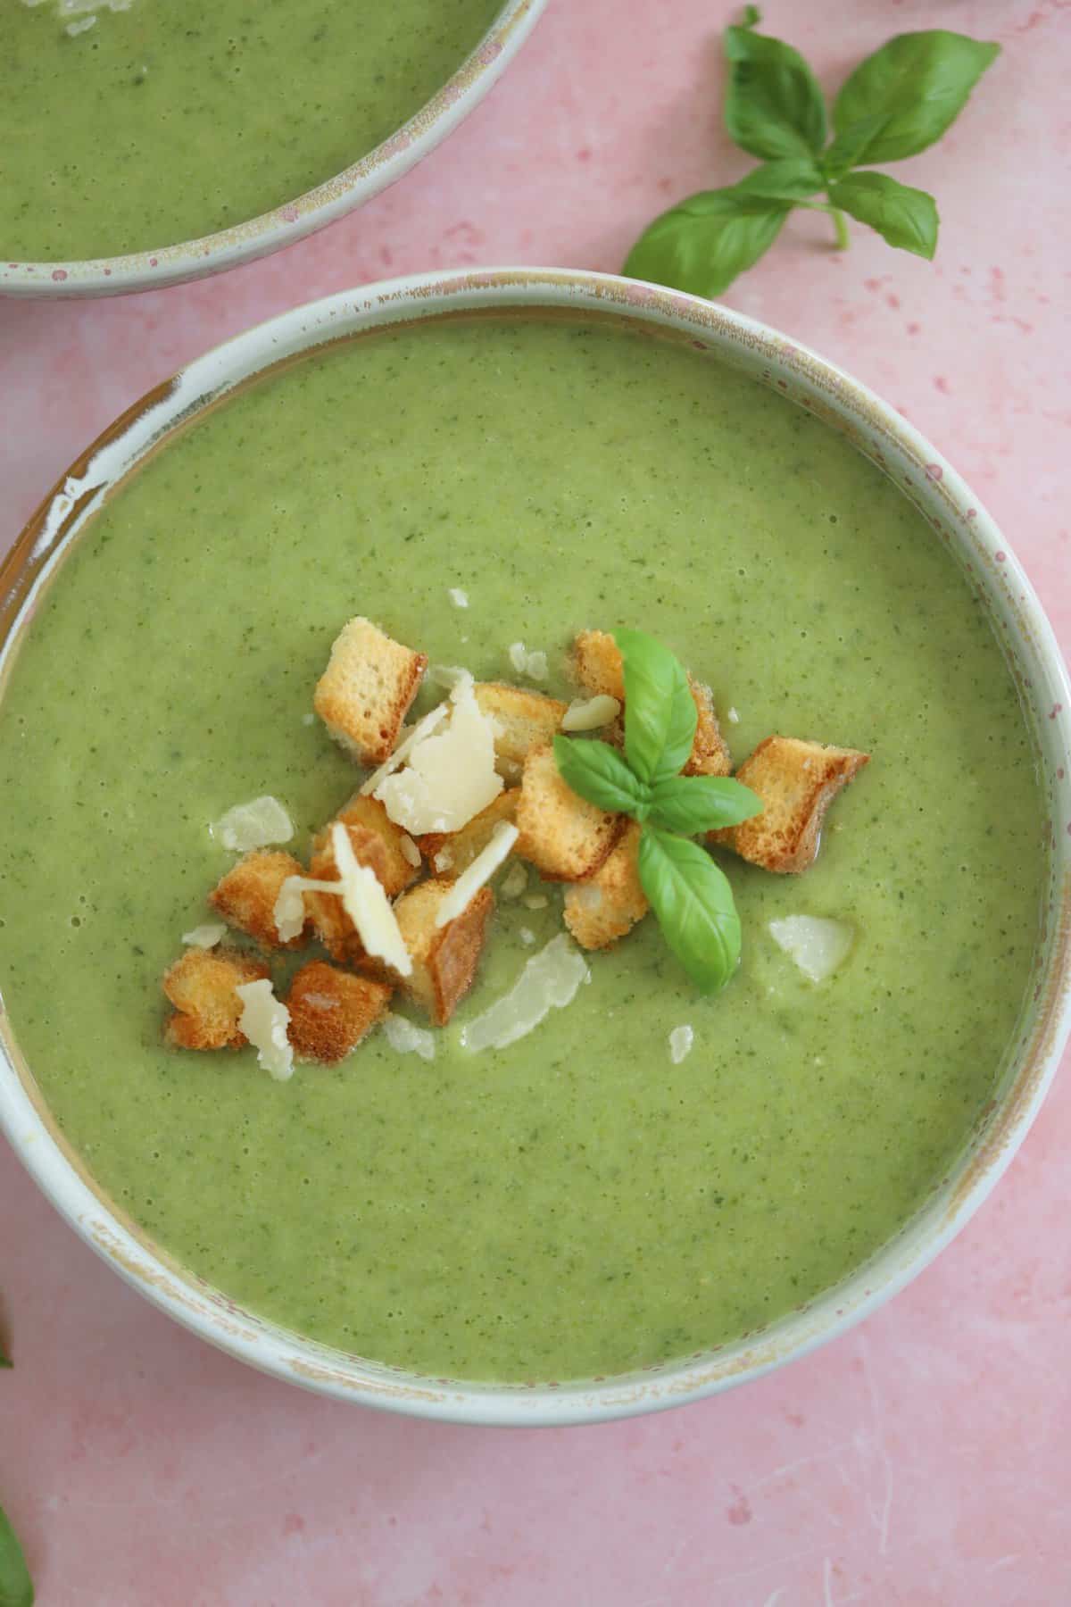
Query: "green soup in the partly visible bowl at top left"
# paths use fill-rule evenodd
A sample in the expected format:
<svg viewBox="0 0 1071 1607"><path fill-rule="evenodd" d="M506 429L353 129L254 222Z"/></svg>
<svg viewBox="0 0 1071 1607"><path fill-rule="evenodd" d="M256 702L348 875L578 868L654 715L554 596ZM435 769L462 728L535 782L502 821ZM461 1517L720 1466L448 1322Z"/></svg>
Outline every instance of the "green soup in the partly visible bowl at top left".
<svg viewBox="0 0 1071 1607"><path fill-rule="evenodd" d="M294 201L419 111L499 10L0 0L0 252L114 257Z"/></svg>

